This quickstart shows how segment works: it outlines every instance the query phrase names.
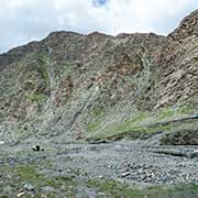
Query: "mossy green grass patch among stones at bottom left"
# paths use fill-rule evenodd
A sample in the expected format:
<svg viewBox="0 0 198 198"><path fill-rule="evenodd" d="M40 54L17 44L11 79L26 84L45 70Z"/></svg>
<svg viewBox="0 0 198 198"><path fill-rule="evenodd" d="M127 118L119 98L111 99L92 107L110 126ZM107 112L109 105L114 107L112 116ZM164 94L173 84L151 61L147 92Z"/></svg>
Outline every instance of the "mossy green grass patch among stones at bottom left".
<svg viewBox="0 0 198 198"><path fill-rule="evenodd" d="M30 190L25 190L24 184L29 184L33 187L34 198L41 197L42 195L47 195L47 197L59 197L61 195L65 195L65 197L69 198L75 197L76 185L73 177L40 174L37 172L37 165L3 166L0 167L0 170L6 175L10 175L13 178L10 183L15 183L16 188L23 189L26 197L30 197ZM43 187L45 186L52 187L54 191L45 194L46 191L43 191Z"/></svg>

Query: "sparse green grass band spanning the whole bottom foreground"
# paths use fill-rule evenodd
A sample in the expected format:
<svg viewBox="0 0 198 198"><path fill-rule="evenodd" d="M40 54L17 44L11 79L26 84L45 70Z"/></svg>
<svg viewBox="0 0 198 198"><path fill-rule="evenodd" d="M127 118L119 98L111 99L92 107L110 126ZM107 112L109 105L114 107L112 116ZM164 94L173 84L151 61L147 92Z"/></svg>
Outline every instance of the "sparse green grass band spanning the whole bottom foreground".
<svg viewBox="0 0 198 198"><path fill-rule="evenodd" d="M42 164L40 164L40 169ZM50 198L55 198L59 196L65 196L66 198L75 198L80 195L86 196L86 191L81 195L77 190L77 186L80 184L81 187L86 188L87 191L95 191L96 197L107 197L107 198L169 198L169 197L191 197L198 194L197 185L177 185L177 186L148 186L140 187L124 184L114 179L98 179L89 178L84 182L78 182L74 177L67 176L53 176L50 174L38 173L37 167L32 165L16 165L16 166L2 166L0 170L4 175L10 175L15 180L15 185L21 189L24 197L34 197L38 198L41 196L47 196ZM4 180L8 183L8 180ZM33 190L25 189L25 186L30 186ZM44 187L48 187L50 191L45 191ZM15 195L19 191L15 191ZM6 194L7 195L7 194ZM14 195L14 191L13 194Z"/></svg>

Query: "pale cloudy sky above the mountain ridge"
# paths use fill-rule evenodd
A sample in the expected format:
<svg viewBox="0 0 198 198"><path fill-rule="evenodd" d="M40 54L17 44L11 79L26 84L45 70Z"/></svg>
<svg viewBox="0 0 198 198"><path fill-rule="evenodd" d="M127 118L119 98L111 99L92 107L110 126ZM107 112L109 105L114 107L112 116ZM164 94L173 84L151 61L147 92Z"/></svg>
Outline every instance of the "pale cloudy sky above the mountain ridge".
<svg viewBox="0 0 198 198"><path fill-rule="evenodd" d="M166 35L198 0L0 0L0 53L54 31Z"/></svg>

